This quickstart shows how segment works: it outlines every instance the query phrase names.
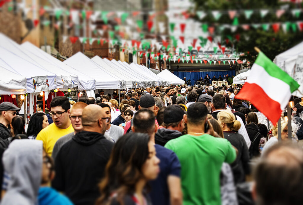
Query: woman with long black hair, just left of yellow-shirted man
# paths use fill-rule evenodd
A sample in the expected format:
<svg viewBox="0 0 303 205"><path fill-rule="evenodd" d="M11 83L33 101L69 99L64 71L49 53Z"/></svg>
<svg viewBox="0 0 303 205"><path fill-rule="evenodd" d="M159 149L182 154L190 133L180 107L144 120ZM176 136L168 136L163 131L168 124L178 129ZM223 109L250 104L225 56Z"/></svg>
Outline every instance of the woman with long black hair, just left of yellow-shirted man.
<svg viewBox="0 0 303 205"><path fill-rule="evenodd" d="M36 139L38 133L48 125L48 118L44 112L37 112L33 114L27 127L28 138Z"/></svg>

